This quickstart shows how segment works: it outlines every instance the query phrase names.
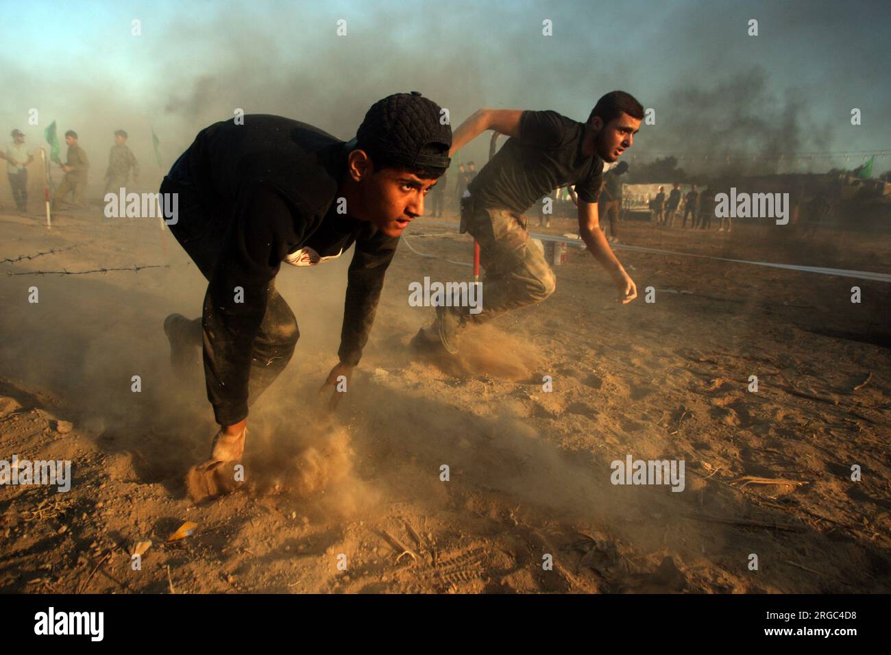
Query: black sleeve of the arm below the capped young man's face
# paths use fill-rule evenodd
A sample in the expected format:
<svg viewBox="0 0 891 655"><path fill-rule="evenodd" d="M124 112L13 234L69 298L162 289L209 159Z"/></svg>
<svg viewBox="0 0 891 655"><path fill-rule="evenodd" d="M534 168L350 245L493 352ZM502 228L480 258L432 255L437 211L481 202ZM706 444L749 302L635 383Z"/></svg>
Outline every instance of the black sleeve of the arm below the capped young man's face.
<svg viewBox="0 0 891 655"><path fill-rule="evenodd" d="M356 252L347 274L347 299L343 310L338 356L342 364L356 366L372 331L374 315L384 286L384 275L396 254L399 237L381 233L356 240Z"/></svg>

